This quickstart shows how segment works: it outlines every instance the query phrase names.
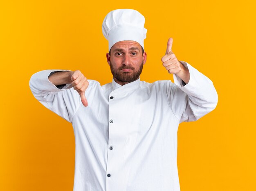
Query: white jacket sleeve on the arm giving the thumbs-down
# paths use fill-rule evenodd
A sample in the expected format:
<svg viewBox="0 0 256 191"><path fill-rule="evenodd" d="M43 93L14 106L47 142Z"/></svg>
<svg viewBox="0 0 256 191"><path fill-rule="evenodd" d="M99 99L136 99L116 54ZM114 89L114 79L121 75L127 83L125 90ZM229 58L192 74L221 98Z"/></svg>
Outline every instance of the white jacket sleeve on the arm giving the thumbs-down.
<svg viewBox="0 0 256 191"><path fill-rule="evenodd" d="M43 70L34 73L29 80L29 87L41 104L68 122L72 122L81 104L80 96L71 84L56 87L49 81L48 77L56 71L70 70Z"/></svg>

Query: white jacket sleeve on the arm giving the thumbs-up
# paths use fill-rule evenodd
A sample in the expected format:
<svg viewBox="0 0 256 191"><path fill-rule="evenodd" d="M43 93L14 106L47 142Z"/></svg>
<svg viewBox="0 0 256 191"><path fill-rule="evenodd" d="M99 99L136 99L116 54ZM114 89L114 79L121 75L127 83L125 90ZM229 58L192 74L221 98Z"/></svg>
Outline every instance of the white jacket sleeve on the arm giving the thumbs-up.
<svg viewBox="0 0 256 191"><path fill-rule="evenodd" d="M189 69L189 82L185 84L174 74L174 83L167 87L168 101L180 123L198 120L215 109L218 103L213 82L189 63L181 63Z"/></svg>

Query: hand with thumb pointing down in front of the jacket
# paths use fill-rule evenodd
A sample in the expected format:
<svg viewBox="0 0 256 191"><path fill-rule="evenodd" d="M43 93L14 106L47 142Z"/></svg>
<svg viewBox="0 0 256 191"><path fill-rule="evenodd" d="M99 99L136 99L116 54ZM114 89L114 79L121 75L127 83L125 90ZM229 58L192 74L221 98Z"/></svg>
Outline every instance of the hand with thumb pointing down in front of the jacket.
<svg viewBox="0 0 256 191"><path fill-rule="evenodd" d="M88 102L87 102L87 99L85 98L85 90L89 86L89 82L87 81L87 78L83 76L81 71L75 70L70 72L69 79L71 81L73 88L79 93L83 105L87 107Z"/></svg>

